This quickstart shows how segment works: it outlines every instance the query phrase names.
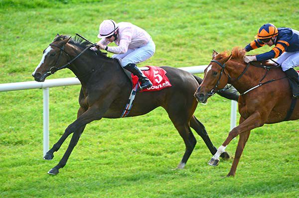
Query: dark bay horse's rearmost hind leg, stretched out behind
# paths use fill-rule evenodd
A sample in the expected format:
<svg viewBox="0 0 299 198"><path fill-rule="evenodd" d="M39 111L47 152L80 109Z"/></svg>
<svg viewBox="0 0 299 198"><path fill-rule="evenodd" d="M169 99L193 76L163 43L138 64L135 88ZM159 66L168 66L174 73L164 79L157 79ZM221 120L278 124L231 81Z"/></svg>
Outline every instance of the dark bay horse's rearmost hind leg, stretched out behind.
<svg viewBox="0 0 299 198"><path fill-rule="evenodd" d="M205 144L207 145L210 152L214 155L217 151L217 148L213 145L208 133L205 130L205 127L201 122L199 122L196 117L193 115L190 119L190 127L197 132L198 135L201 136ZM227 152L224 152L220 155L220 157L224 159L229 159L229 154Z"/></svg>

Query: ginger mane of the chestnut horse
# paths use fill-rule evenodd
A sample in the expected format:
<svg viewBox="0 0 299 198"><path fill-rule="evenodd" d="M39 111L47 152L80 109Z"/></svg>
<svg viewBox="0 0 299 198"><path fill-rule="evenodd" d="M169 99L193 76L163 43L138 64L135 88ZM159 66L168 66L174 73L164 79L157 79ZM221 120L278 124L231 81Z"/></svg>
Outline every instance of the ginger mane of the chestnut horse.
<svg viewBox="0 0 299 198"><path fill-rule="evenodd" d="M215 57L215 60L220 60L220 59L223 59L223 58L228 57L230 55L232 56L231 60L235 60L235 61L238 61L238 62L241 62L241 63L245 63L244 60L243 60L243 58L245 56L245 51L241 47L234 47L232 49L231 53L228 52L228 51L222 52L222 53L218 54ZM263 66L273 66L274 65L273 63L271 63L269 61L255 61L255 63L263 65Z"/></svg>

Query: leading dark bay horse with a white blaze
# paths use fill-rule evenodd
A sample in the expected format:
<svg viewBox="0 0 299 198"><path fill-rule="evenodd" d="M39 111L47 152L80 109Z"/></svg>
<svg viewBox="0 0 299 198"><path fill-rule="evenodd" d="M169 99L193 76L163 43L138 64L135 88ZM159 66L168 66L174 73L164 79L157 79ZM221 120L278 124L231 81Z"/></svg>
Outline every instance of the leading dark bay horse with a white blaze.
<svg viewBox="0 0 299 198"><path fill-rule="evenodd" d="M32 73L34 79L40 82L55 71L67 67L74 72L82 85L77 119L66 128L61 138L44 156L44 159L51 160L53 153L58 151L68 135L73 133L62 159L49 174L58 174L58 170L66 165L86 124L102 118L120 118L132 90L132 83L118 61L100 51L90 50L89 47L82 39L71 39L69 36L57 34L44 50L40 64ZM190 127L202 137L212 154L215 154L217 149L204 126L193 115L197 106L193 94L202 79L181 69L167 66L162 68L167 71L166 75L172 86L155 92L138 92L129 117L147 114L159 106L166 110L186 146L177 166L180 169L184 168L196 144ZM238 94L234 92L223 92L222 96L238 98ZM229 158L229 155L224 153L222 157Z"/></svg>

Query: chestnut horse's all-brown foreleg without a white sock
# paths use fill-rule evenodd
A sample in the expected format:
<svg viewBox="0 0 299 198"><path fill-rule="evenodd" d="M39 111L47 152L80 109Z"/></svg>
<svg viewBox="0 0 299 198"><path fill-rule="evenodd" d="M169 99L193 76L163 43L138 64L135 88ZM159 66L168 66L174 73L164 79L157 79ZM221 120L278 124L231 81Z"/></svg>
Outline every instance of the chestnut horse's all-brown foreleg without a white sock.
<svg viewBox="0 0 299 198"><path fill-rule="evenodd" d="M250 131L240 133L240 138L239 138L239 141L238 141L238 146L237 146L237 149L236 149L235 158L234 158L231 170L230 170L230 172L227 175L228 177L235 176L236 169L237 169L240 157L241 157L241 155L243 153L243 150L244 150L246 142L247 142L247 140L249 138L249 135L250 135Z"/></svg>

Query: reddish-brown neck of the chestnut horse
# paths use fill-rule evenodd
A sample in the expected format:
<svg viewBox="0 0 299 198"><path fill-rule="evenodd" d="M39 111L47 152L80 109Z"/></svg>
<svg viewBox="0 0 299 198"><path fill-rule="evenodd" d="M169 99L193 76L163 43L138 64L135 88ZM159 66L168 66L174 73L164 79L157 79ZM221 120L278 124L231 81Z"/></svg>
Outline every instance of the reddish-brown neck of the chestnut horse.
<svg viewBox="0 0 299 198"><path fill-rule="evenodd" d="M229 83L231 83L240 93L258 85L266 74L266 69L255 66L248 66L247 70L242 74L246 69L247 64L239 63L234 60L227 62L226 65L228 73L232 78ZM242 76L237 79L241 74ZM269 76L266 76L265 79L268 77Z"/></svg>

